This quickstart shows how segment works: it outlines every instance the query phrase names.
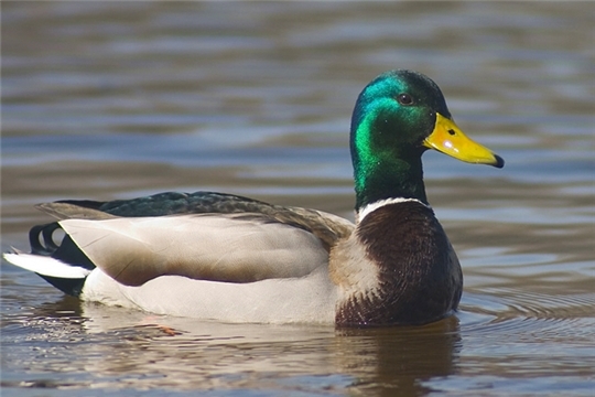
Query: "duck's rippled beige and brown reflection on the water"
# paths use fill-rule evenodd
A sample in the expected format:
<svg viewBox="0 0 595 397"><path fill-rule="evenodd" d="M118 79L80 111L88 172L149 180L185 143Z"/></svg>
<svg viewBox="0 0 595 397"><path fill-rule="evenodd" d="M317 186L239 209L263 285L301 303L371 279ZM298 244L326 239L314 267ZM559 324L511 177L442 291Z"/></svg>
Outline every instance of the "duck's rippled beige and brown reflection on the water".
<svg viewBox="0 0 595 397"><path fill-rule="evenodd" d="M40 308L35 316L45 319L54 346L47 353L64 355L36 365L84 372L82 387L318 393L327 383L335 391L419 396L430 391L425 380L455 372L461 350L456 316L376 329L229 324L73 298ZM77 383L71 378L69 385Z"/></svg>

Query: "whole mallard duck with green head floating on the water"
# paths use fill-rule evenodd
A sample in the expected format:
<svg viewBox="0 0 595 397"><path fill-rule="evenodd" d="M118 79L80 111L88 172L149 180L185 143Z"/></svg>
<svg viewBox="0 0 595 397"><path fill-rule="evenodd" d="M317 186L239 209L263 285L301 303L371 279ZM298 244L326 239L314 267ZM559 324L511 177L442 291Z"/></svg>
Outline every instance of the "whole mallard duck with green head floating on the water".
<svg viewBox="0 0 595 397"><path fill-rule="evenodd" d="M393 69L350 122L355 223L235 194L165 192L36 207L12 265L82 301L234 323L422 325L456 312L461 264L430 206L422 154L504 167L465 136L439 86Z"/></svg>

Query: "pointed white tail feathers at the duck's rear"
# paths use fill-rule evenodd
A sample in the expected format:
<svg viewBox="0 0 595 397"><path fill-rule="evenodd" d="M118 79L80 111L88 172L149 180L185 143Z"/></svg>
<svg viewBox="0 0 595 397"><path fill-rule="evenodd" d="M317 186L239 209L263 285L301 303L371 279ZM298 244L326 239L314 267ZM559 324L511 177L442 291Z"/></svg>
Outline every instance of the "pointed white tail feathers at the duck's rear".
<svg viewBox="0 0 595 397"><path fill-rule="evenodd" d="M43 276L64 279L84 279L91 272L91 270L79 266L72 266L47 256L19 251L14 254L4 253L3 256L4 259L14 266Z"/></svg>

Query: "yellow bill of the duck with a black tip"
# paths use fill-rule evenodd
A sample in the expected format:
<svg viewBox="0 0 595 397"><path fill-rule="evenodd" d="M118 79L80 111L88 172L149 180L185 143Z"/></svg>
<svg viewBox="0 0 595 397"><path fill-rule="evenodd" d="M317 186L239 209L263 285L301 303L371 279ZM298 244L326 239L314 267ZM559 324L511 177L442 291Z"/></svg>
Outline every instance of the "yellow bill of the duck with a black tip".
<svg viewBox="0 0 595 397"><path fill-rule="evenodd" d="M436 114L436 126L432 133L423 140L423 146L461 161L496 168L504 167L501 157L467 138L453 120L441 114Z"/></svg>

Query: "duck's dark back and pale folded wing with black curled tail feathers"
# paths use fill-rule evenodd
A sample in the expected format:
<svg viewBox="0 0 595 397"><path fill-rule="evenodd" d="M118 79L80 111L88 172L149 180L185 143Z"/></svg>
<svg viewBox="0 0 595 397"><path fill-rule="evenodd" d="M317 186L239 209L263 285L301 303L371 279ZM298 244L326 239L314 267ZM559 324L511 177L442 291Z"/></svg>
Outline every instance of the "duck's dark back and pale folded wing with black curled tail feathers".
<svg viewBox="0 0 595 397"><path fill-rule="evenodd" d="M354 229L324 212L214 192L37 208L62 221L31 229L33 254L97 266L129 286L164 275L227 282L302 277L325 266L331 247ZM52 238L57 228L66 233L60 246Z"/></svg>

